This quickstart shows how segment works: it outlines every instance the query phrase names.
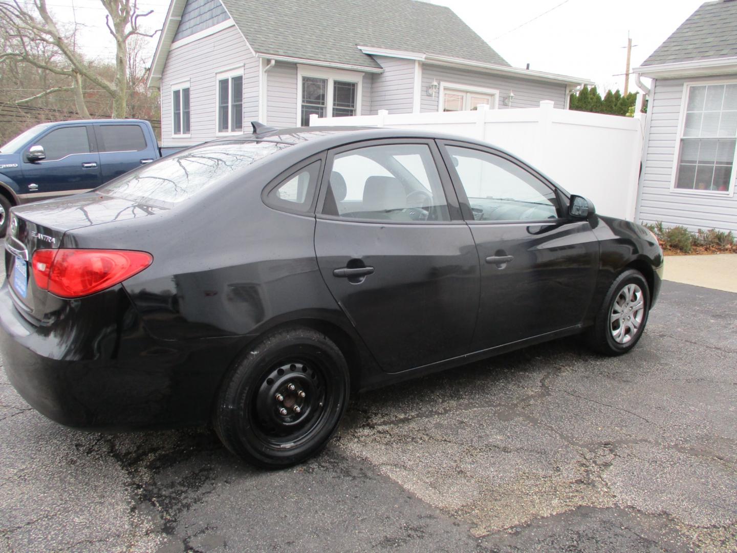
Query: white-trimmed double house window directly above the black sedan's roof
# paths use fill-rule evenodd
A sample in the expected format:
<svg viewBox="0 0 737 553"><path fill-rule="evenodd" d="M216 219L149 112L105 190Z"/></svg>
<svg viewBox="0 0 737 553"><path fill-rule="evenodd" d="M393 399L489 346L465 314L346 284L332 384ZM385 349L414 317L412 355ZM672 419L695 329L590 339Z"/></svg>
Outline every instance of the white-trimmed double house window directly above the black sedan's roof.
<svg viewBox="0 0 737 553"><path fill-rule="evenodd" d="M310 115L346 117L360 113L363 74L326 68L298 66L298 125L310 125Z"/></svg>

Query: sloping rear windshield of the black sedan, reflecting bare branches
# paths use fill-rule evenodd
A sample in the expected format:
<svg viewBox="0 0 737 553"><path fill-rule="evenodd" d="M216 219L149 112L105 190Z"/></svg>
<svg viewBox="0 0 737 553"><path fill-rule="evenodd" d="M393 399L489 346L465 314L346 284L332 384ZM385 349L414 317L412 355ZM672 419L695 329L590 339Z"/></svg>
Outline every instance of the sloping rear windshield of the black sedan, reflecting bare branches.
<svg viewBox="0 0 737 553"><path fill-rule="evenodd" d="M126 173L97 192L161 207L181 201L230 173L290 147L284 142L217 142L174 153Z"/></svg>

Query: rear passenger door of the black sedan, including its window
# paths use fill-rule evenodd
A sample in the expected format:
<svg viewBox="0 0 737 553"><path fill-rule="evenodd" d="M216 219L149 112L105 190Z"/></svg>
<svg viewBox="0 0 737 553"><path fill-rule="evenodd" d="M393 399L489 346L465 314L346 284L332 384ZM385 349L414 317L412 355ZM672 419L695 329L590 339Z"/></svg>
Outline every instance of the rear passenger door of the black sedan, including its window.
<svg viewBox="0 0 737 553"><path fill-rule="evenodd" d="M330 151L315 252L332 296L385 371L468 352L478 257L433 141Z"/></svg>

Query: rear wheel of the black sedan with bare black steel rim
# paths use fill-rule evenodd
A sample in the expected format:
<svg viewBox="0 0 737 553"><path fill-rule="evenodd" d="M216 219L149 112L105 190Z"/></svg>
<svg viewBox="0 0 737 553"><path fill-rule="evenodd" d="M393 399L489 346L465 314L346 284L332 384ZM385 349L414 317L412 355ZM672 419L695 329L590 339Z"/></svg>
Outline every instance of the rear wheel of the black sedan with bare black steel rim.
<svg viewBox="0 0 737 553"><path fill-rule="evenodd" d="M325 447L348 396L346 359L329 338L310 328L278 330L249 347L223 382L214 428L252 465L290 467Z"/></svg>

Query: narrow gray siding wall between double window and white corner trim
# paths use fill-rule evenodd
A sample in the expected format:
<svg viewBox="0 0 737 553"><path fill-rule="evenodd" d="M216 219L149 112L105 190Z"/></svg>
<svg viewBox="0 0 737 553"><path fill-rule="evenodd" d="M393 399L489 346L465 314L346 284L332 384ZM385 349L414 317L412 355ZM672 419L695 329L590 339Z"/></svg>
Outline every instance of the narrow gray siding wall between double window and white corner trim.
<svg viewBox="0 0 737 553"><path fill-rule="evenodd" d="M411 114L414 97L414 60L374 56L384 72L374 74L371 115L380 109L390 114Z"/></svg>

